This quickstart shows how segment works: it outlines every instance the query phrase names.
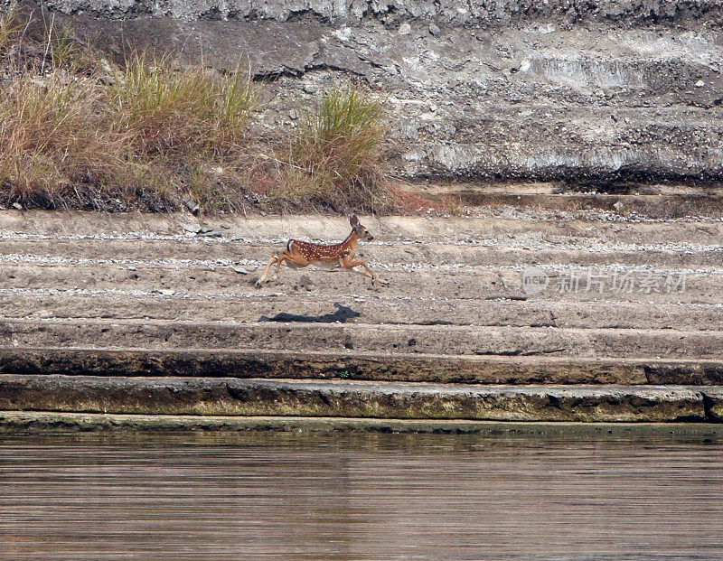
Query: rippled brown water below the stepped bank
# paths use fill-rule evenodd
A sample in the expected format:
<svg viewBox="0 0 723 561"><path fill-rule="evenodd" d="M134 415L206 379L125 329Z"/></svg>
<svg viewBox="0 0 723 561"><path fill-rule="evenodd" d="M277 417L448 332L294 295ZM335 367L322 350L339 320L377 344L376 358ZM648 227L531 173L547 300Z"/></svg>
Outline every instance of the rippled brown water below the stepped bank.
<svg viewBox="0 0 723 561"><path fill-rule="evenodd" d="M0 557L723 557L723 444L0 438Z"/></svg>

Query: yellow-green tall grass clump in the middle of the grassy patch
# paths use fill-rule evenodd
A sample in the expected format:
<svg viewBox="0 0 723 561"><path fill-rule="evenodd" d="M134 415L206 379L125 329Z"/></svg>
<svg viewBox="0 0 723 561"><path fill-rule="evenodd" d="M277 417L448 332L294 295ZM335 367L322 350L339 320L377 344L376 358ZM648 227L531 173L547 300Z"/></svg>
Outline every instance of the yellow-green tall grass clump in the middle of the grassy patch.
<svg viewBox="0 0 723 561"><path fill-rule="evenodd" d="M127 136L127 165L170 201L187 194L203 210L235 210L245 188L234 173L248 160L249 118L258 89L240 69L176 68L136 54L108 85L112 126Z"/></svg>

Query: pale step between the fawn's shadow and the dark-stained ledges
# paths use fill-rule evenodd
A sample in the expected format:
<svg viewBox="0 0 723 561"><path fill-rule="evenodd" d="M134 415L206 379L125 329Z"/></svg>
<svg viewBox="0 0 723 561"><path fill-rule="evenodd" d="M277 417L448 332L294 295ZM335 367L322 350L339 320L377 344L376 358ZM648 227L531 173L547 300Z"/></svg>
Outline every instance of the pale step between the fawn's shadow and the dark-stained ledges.
<svg viewBox="0 0 723 561"><path fill-rule="evenodd" d="M723 331L521 326L6 321L0 346L723 361Z"/></svg>

